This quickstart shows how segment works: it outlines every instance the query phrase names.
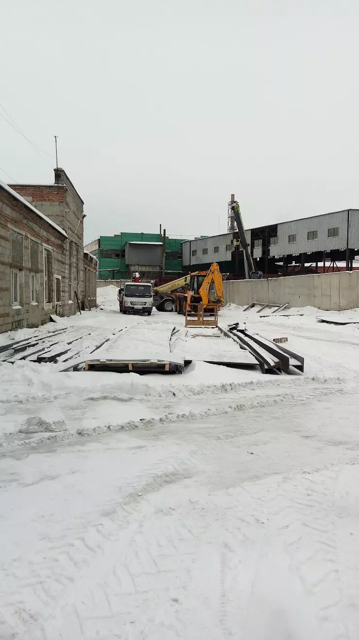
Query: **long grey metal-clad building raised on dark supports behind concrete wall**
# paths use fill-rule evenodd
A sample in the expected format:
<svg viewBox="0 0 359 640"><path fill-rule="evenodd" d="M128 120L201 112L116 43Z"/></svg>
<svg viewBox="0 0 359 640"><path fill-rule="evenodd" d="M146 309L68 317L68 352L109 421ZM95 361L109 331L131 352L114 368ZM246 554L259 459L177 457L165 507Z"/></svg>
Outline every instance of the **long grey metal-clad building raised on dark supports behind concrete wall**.
<svg viewBox="0 0 359 640"><path fill-rule="evenodd" d="M228 227L232 222L228 219ZM251 255L257 269L264 275L284 273L315 273L325 269L338 270L337 262L353 268L359 253L359 209L301 218L276 225L264 225L246 230ZM183 268L209 268L218 262L223 273L244 276L243 250L235 230L227 234L200 238L182 243Z"/></svg>

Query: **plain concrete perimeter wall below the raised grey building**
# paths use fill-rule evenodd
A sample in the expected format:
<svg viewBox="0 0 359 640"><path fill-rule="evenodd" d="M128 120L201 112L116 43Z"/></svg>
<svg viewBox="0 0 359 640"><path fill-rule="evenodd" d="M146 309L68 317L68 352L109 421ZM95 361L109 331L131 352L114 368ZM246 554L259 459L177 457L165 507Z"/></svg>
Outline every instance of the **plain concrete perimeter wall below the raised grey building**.
<svg viewBox="0 0 359 640"><path fill-rule="evenodd" d="M317 307L340 311L359 307L359 271L223 282L225 302L289 303L289 307Z"/></svg>

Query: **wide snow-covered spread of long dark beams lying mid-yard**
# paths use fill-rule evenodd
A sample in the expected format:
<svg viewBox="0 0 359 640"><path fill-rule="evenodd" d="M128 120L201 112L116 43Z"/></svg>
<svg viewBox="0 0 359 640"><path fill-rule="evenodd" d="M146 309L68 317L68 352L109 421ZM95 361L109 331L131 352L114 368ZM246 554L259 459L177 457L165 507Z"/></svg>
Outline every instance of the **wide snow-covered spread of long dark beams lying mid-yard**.
<svg viewBox="0 0 359 640"><path fill-rule="evenodd" d="M304 370L304 358L292 353L278 342L251 333L245 324L228 328L179 329L172 324L138 325L120 330L102 330L88 326L66 326L33 333L28 339L17 340L0 348L0 359L10 363L19 360L63 364L59 371L113 371L146 373L180 373L193 360L227 367L260 367L263 373L282 371L290 367ZM226 337L219 342L211 337ZM188 340L196 338L196 340ZM235 342L235 345L233 344ZM232 347L230 346L232 344Z"/></svg>

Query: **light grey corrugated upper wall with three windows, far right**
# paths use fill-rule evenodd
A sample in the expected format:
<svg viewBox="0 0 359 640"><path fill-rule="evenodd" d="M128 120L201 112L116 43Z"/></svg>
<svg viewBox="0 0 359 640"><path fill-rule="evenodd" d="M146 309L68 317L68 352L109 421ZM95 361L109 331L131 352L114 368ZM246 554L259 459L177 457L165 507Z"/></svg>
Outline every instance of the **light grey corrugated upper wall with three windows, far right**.
<svg viewBox="0 0 359 640"><path fill-rule="evenodd" d="M359 247L359 210L349 210L349 248ZM339 236L328 237L328 229L339 227ZM316 240L308 240L308 232L317 231ZM289 243L289 236L296 242ZM270 255L298 255L315 251L343 250L347 246L347 209L323 216L303 218L278 224L278 244L272 245Z"/></svg>

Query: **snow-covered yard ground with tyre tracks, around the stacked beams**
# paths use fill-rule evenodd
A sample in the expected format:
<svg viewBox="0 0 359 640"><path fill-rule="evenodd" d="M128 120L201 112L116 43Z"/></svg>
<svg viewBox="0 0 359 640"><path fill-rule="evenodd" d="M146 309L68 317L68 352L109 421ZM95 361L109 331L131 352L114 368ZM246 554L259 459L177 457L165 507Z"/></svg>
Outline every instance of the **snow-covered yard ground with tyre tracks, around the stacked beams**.
<svg viewBox="0 0 359 640"><path fill-rule="evenodd" d="M61 323L183 327L116 292ZM356 639L359 324L333 315L221 310L288 337L304 374L202 362L228 344L198 330L182 375L0 362L0 638Z"/></svg>

